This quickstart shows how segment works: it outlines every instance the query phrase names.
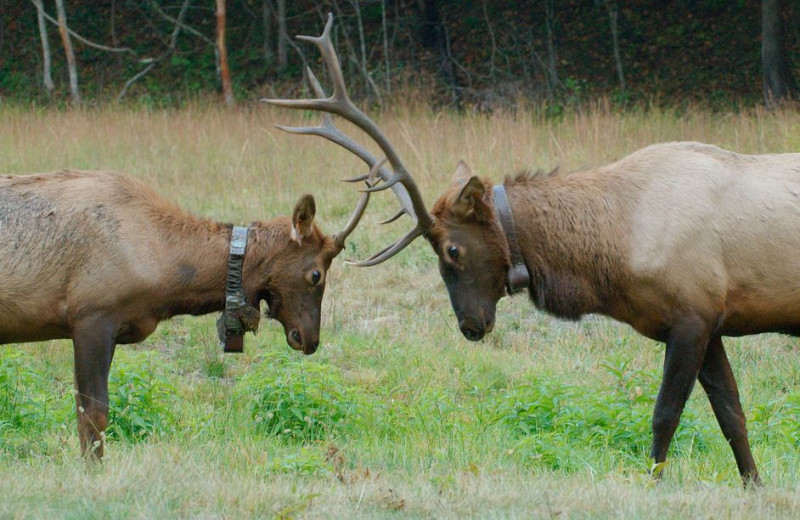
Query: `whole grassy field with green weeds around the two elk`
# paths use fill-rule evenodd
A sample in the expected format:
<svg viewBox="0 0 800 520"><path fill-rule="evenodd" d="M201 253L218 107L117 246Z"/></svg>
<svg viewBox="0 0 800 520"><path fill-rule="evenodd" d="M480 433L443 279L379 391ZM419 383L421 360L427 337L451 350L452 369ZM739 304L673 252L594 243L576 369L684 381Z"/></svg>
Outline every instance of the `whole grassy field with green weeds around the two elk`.
<svg viewBox="0 0 800 520"><path fill-rule="evenodd" d="M459 159L499 182L668 140L800 150L794 112L598 105L561 120L411 109L376 119L428 204ZM272 127L315 121L266 106L0 107L0 164L14 174L122 170L195 214L245 224L287 214L311 192L333 233L357 199L337 179L363 166ZM342 256L364 258L399 237L407 221L375 224L395 205L374 196ZM647 454L662 345L600 317L552 319L525 296L503 299L494 332L470 343L423 241L369 269L340 257L328 284L311 357L289 349L277 322L248 336L243 355L223 355L214 315L178 317L119 348L97 467L78 457L69 342L0 346L0 518L800 517L793 338L727 342L764 488L742 489L699 389L654 484Z"/></svg>

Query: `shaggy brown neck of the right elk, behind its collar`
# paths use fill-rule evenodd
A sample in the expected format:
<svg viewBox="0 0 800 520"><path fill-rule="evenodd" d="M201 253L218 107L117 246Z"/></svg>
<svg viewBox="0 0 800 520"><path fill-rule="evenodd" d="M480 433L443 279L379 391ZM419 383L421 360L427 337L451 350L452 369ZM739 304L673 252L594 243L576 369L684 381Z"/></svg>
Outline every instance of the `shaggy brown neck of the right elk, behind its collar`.
<svg viewBox="0 0 800 520"><path fill-rule="evenodd" d="M566 319L604 312L625 283L624 204L594 172L520 175L505 183L540 309Z"/></svg>

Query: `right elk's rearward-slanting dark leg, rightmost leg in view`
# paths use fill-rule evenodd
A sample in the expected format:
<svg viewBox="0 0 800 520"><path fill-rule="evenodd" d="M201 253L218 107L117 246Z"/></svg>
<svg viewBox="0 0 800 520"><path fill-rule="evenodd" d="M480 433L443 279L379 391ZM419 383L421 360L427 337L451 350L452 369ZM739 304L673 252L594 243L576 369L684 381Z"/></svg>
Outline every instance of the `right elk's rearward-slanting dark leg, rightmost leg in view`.
<svg viewBox="0 0 800 520"><path fill-rule="evenodd" d="M736 458L736 465L739 467L739 474L745 486L761 484L753 453L750 451L750 443L747 441L747 427L739 399L739 389L736 387L736 379L733 377L721 337L711 338L698 379L708 395L708 400L711 401L711 408L717 416L722 434L733 449L733 456Z"/></svg>

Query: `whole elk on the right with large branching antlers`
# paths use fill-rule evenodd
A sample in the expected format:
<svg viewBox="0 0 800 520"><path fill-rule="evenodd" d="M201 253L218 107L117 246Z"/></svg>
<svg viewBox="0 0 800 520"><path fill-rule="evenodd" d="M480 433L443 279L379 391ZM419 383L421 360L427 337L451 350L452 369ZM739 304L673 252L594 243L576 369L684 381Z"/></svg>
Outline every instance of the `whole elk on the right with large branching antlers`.
<svg viewBox="0 0 800 520"><path fill-rule="evenodd" d="M742 155L665 143L607 166L523 173L497 186L460 162L428 212L387 138L348 97L331 25L329 15L322 36L298 38L320 49L333 95L269 101L338 114L388 158L391 170L379 171L383 184L367 191L391 187L402 195L396 216L409 215L414 226L354 263L378 264L425 237L459 327L472 341L492 330L500 298L527 289L533 304L554 316L602 314L665 343L651 459L666 460L699 380L743 482L760 483L722 338L800 335L800 154Z"/></svg>

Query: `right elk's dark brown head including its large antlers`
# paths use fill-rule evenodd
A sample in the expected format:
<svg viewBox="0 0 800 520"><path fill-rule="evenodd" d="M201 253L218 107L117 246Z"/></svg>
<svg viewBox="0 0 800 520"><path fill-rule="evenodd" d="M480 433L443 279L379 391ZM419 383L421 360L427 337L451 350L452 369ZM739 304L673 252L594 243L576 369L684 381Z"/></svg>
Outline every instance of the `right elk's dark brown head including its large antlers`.
<svg viewBox="0 0 800 520"><path fill-rule="evenodd" d="M351 262L357 266L371 266L384 262L408 246L414 239L424 236L439 257L439 271L450 295L450 302L458 318L461 332L467 339L477 341L494 326L497 301L506 293L506 280L511 267L509 246L494 213L492 190L471 174L469 168L459 163L448 190L436 201L429 213L414 179L400 157L378 126L364 114L347 95L341 65L331 42L333 15L321 36L298 36L297 39L314 43L320 50L333 83L333 94L325 97L311 69L307 73L317 99L270 99L271 104L287 108L323 112L324 123L317 127L279 128L291 133L325 137L348 149L371 166L377 175L377 184L364 190L367 193L391 189L400 201L400 210L382 222L389 223L408 215L414 227L394 244L371 258ZM340 132L331 131L330 115L339 115L361 128L381 148L391 169L382 166L376 157Z"/></svg>

